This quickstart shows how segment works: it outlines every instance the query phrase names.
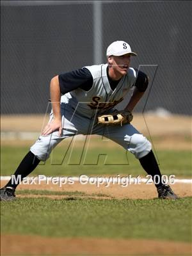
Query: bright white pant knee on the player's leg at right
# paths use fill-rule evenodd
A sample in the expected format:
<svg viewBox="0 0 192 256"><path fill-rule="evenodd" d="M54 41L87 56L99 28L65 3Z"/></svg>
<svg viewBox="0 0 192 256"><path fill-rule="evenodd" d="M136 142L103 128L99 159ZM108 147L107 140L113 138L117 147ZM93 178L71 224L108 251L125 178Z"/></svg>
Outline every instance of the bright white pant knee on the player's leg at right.
<svg viewBox="0 0 192 256"><path fill-rule="evenodd" d="M127 150L138 159L146 156L152 149L151 143L142 134L126 135L124 140L128 143Z"/></svg>

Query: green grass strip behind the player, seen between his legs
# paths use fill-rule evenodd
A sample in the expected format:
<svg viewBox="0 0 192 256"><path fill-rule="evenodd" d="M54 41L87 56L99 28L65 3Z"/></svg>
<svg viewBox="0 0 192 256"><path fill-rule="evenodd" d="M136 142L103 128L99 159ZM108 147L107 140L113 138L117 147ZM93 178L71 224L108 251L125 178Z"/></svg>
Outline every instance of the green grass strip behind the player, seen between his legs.
<svg viewBox="0 0 192 256"><path fill-rule="evenodd" d="M1 147L1 175L11 175L15 172L22 158L29 151L28 147ZM70 153L70 152L69 152ZM161 172L177 177L192 177L191 152L190 150L158 150L157 159ZM98 159L98 156L100 157ZM104 154L108 155L106 159ZM52 157L46 163L40 163L31 176L44 174L56 175L105 175L105 174L131 174L143 175L146 173L134 156L123 148L90 148L84 161L82 148L74 149L71 158L70 154L65 156L65 148L58 147L53 150ZM105 164L106 159L106 164ZM84 161L84 164L83 164Z"/></svg>

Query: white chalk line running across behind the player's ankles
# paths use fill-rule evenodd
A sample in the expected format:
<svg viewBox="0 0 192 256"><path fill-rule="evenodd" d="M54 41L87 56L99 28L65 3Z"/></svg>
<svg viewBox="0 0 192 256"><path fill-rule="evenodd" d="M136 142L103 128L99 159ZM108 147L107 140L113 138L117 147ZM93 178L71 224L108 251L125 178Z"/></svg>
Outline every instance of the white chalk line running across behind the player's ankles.
<svg viewBox="0 0 192 256"><path fill-rule="evenodd" d="M41 178L41 180L42 181L44 181L44 180L52 180L52 178L54 178L54 179L60 179L61 177L50 177L50 176L48 176L48 177L46 177L45 175L44 175L44 179L42 179ZM67 177L64 177L64 176L62 176L62 178L63 179L67 179ZM0 176L0 180L10 180L11 179L11 176ZM38 177L27 177L27 178L25 178L26 180L28 180L28 181L30 181L30 180L38 180ZM108 177L104 177L104 178L102 178L102 177L91 177L91 179L92 180L100 180L100 181L104 181L104 182L106 182L107 180L109 181L109 178ZM79 181L79 177L70 177L70 180L73 180L73 181ZM84 179L84 180L86 180L86 179ZM132 178L131 180L134 180L134 178ZM144 179L144 178L141 178L141 182L143 182L143 183L146 183L147 182L147 180L148 179ZM114 182L115 183L117 183L118 182L118 179L117 178L115 178L114 179ZM185 184L192 184L192 179L174 179L174 183L185 183Z"/></svg>

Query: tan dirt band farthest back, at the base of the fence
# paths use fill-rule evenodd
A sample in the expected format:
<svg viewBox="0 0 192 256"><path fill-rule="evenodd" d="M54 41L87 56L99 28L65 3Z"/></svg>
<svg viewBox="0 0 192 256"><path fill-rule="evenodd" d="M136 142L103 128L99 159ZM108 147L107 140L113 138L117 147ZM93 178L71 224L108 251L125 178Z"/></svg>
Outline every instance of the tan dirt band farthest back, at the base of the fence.
<svg viewBox="0 0 192 256"><path fill-rule="evenodd" d="M49 120L43 115L2 115L1 132L37 132ZM190 150L191 149L191 116L170 115L157 116L153 114L134 114L132 125L153 142L155 148ZM36 135L35 135L36 136ZM18 137L18 136L16 136ZM37 136L35 137L36 140ZM1 145L31 145L35 140L8 140L1 138ZM97 146L97 141L94 142Z"/></svg>

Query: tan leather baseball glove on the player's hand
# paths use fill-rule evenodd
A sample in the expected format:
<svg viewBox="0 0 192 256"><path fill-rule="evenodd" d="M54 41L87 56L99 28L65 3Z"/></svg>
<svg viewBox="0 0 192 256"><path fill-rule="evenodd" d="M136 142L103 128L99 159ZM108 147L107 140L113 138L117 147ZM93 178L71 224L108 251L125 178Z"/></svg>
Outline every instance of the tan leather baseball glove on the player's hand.
<svg viewBox="0 0 192 256"><path fill-rule="evenodd" d="M108 115L98 116L98 124L103 125L123 125L132 121L132 113L130 111L115 111Z"/></svg>

